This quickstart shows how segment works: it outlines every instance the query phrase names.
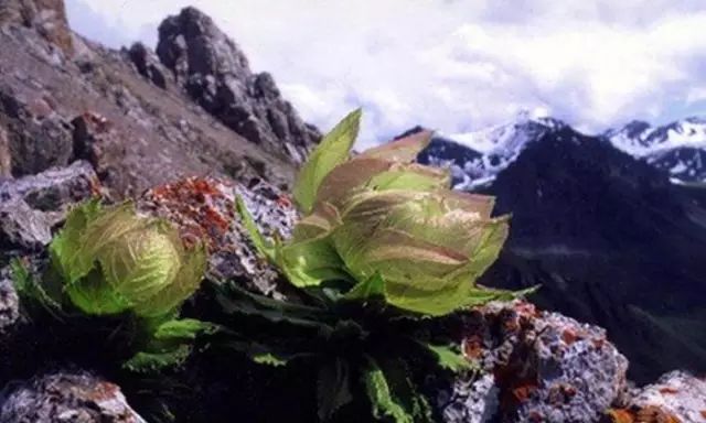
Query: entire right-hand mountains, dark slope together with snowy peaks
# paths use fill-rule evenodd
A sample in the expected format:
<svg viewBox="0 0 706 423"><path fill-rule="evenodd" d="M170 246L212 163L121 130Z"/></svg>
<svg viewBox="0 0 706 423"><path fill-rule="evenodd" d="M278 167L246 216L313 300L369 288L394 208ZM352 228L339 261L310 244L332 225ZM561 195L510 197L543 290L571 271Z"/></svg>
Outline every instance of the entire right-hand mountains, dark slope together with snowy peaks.
<svg viewBox="0 0 706 423"><path fill-rule="evenodd" d="M705 128L633 122L591 137L525 117L438 137L419 161L451 165L457 188L512 214L486 284L541 284L537 304L606 327L643 381L706 370Z"/></svg>

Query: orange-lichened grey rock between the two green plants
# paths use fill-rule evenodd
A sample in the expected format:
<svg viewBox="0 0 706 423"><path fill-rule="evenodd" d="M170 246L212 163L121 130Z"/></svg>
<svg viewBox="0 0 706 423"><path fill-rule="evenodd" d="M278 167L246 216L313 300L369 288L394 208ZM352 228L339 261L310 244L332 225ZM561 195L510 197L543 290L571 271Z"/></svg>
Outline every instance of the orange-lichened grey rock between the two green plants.
<svg viewBox="0 0 706 423"><path fill-rule="evenodd" d="M263 234L289 236L297 213L285 194L264 181L253 181L247 187L214 177L185 178L149 189L138 200L138 207L176 224L186 241L205 238L212 275L282 297L286 285L279 283L277 271L257 256L236 217L237 196L244 199Z"/></svg>

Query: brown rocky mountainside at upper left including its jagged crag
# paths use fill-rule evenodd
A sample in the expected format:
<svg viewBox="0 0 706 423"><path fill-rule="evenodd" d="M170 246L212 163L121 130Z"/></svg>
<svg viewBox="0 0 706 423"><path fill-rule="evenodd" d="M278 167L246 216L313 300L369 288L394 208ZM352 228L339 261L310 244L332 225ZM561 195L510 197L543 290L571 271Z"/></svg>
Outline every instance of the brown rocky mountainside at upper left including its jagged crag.
<svg viewBox="0 0 706 423"><path fill-rule="evenodd" d="M182 15L167 20L173 31L205 32L183 37L176 63L202 54L213 67L186 66L192 83L234 87L220 88L217 110L203 101L207 87L188 89L149 48L114 51L73 33L62 1L0 2L0 177L85 159L117 197L188 174L289 184L318 132L271 76L246 62L229 67L239 51L210 18L195 9Z"/></svg>

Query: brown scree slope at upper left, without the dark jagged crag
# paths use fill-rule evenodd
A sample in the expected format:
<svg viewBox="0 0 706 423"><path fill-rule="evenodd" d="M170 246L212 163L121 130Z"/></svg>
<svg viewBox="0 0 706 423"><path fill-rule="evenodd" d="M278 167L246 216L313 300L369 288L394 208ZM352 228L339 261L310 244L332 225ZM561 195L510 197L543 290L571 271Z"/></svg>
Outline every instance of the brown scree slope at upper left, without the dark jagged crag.
<svg viewBox="0 0 706 423"><path fill-rule="evenodd" d="M257 176L281 186L291 183L291 158L274 156L214 121L176 89L170 72L149 50L133 48L131 59L129 52L111 51L71 33L74 53L64 54L54 39L25 25L21 11L29 3L40 4L2 2L2 177L85 158L116 197L139 195L192 174L243 181ZM63 8L61 1L56 3ZM140 74L142 59L147 78ZM159 87L159 72L164 74L167 89ZM278 149L285 150L281 143Z"/></svg>

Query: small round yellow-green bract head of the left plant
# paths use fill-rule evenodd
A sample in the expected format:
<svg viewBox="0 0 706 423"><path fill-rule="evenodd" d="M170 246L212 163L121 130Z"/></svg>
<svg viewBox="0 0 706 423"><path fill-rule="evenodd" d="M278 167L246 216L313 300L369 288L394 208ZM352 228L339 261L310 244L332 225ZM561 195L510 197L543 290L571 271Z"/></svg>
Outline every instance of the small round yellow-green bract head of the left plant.
<svg viewBox="0 0 706 423"><path fill-rule="evenodd" d="M72 304L93 315L164 316L196 291L206 268L203 243L188 250L171 224L137 216L131 203L75 207L50 254Z"/></svg>

